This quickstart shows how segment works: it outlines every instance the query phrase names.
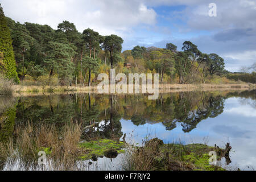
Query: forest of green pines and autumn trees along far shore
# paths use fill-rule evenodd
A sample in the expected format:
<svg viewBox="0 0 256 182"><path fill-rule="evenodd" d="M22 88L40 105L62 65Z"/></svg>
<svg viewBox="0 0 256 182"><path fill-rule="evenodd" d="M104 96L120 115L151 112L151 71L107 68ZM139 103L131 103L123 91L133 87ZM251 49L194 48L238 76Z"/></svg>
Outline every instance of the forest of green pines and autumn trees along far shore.
<svg viewBox="0 0 256 182"><path fill-rule="evenodd" d="M190 41L182 51L167 43L166 48L135 46L122 52L123 39L102 36L87 28L83 32L67 20L57 30L48 25L15 22L1 7L0 72L22 85L76 85L97 83L98 73L159 73L161 84L228 84L255 82L251 72L225 70L222 57L203 53ZM248 70L248 69L247 69Z"/></svg>

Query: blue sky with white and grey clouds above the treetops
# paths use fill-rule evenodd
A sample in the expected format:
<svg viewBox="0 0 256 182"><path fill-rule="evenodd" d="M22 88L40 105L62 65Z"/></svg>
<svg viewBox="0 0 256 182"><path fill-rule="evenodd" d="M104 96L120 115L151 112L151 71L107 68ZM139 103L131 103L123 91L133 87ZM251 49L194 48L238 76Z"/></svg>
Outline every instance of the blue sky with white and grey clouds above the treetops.
<svg viewBox="0 0 256 182"><path fill-rule="evenodd" d="M0 0L5 15L20 23L48 24L63 20L82 32L124 40L123 51L139 45L181 51L185 40L201 52L217 53L225 69L240 71L256 62L256 0ZM209 16L215 3L217 16Z"/></svg>

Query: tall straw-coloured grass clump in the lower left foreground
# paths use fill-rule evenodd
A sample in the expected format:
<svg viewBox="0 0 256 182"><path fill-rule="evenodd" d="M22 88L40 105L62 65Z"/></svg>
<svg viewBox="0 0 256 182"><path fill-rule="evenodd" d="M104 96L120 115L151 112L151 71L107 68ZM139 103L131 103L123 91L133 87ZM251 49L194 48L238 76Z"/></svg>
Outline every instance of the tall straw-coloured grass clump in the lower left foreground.
<svg viewBox="0 0 256 182"><path fill-rule="evenodd" d="M38 152L46 151L47 169L77 170L81 167L77 163L81 134L81 124L74 123L62 129L46 123L16 126L14 138L0 142L1 165L19 164L19 170L40 169Z"/></svg>

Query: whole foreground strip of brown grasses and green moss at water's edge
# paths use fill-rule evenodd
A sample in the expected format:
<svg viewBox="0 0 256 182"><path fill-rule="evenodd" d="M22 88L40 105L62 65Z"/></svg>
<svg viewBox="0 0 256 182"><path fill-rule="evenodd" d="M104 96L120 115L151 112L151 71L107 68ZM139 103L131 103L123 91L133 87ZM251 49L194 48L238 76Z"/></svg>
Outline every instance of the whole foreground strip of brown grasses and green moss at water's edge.
<svg viewBox="0 0 256 182"><path fill-rule="evenodd" d="M0 166L7 170L85 170L98 158L116 158L121 169L129 171L224 170L209 164L209 151L221 154L221 148L205 144L163 144L157 138L144 146L132 146L124 141L90 138L82 139L81 124L63 126L47 123L18 125L11 138L0 141ZM39 151L46 154L46 166L38 164Z"/></svg>

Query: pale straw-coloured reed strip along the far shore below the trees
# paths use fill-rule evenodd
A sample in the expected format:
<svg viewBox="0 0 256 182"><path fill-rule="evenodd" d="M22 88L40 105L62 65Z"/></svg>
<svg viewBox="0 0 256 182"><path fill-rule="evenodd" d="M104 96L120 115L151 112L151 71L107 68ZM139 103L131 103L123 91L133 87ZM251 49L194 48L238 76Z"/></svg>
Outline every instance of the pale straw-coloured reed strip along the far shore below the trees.
<svg viewBox="0 0 256 182"><path fill-rule="evenodd" d="M128 85L127 85L128 88ZM159 85L159 93L176 93L176 92L192 92L192 91L228 91L228 90L250 90L255 89L255 84L162 84ZM95 93L100 94L97 91L97 86L56 86L53 92L49 91L51 88L46 86L22 86L13 85L13 96L41 96L54 94L72 94L72 93ZM110 94L110 93L108 93ZM118 94L118 93L115 93ZM126 93L121 93L122 95ZM129 94L129 93L127 93ZM136 93L133 93L136 94ZM140 87L140 93L141 87Z"/></svg>

